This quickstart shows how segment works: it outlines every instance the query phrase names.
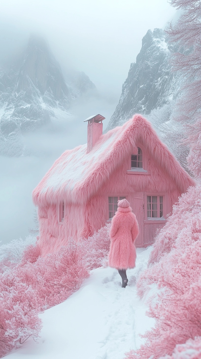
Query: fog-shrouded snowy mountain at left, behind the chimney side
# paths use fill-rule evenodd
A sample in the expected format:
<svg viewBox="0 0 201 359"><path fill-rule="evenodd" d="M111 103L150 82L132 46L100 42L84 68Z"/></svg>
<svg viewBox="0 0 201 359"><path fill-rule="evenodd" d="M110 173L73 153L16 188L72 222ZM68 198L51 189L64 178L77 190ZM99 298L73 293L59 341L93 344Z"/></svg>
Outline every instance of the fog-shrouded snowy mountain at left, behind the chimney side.
<svg viewBox="0 0 201 359"><path fill-rule="evenodd" d="M25 131L68 115L71 103L95 85L83 72L64 79L46 42L31 36L23 53L9 69L0 70L0 140L6 142Z"/></svg>

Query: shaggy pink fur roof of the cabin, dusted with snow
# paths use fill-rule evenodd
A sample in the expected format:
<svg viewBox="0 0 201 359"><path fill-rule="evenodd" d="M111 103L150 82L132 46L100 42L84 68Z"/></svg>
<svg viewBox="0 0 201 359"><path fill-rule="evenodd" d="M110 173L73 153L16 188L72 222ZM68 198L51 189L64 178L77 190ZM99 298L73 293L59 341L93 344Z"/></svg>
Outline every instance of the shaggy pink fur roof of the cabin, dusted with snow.
<svg viewBox="0 0 201 359"><path fill-rule="evenodd" d="M65 151L33 190L34 204L45 206L47 202L62 200L86 202L127 159L138 142L168 172L181 192L195 184L160 141L151 123L135 115L123 126L101 135L90 153L87 153L87 144Z"/></svg>

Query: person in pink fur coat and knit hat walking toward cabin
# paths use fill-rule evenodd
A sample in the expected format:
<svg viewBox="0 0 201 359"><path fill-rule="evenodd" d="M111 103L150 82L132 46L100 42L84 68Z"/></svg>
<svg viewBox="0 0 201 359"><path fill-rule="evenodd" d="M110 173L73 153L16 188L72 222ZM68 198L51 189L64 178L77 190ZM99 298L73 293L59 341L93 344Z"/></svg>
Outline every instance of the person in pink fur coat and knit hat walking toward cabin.
<svg viewBox="0 0 201 359"><path fill-rule="evenodd" d="M117 212L112 218L109 232L110 248L108 254L109 266L116 268L122 278L122 288L128 279L126 270L135 267L135 239L139 234L139 226L135 214L126 199L118 201Z"/></svg>

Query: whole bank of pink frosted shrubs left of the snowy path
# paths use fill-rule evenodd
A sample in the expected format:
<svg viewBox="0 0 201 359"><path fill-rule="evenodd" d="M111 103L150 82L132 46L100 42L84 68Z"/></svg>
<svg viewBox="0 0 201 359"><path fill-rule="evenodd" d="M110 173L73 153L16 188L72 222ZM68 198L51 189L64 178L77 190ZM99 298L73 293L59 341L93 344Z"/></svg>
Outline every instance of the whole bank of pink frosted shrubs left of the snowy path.
<svg viewBox="0 0 201 359"><path fill-rule="evenodd" d="M110 224L79 243L71 238L65 247L40 257L36 244L21 243L4 248L0 267L0 355L16 342L32 336L37 340L41 329L38 313L67 299L80 288L89 270L102 266L109 251ZM16 247L16 248L15 248ZM14 254L13 254L14 253ZM6 268L6 270L5 270Z"/></svg>

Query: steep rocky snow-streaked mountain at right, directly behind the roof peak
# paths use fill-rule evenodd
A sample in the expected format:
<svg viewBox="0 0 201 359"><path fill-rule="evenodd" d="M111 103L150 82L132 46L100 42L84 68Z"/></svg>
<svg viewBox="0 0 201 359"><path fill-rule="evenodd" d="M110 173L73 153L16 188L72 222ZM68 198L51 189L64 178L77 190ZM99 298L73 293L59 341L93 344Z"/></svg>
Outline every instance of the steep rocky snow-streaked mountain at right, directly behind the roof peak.
<svg viewBox="0 0 201 359"><path fill-rule="evenodd" d="M171 48L162 29L156 28L153 32L148 30L142 38L142 48L136 63L130 66L120 101L107 130L121 126L135 113L149 115L177 96L181 75L170 71Z"/></svg>

